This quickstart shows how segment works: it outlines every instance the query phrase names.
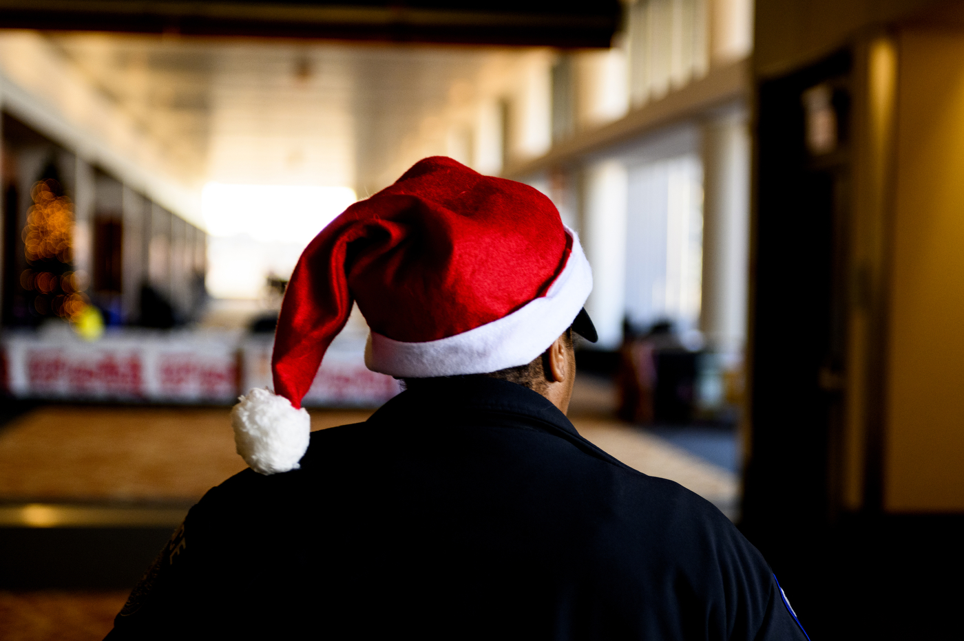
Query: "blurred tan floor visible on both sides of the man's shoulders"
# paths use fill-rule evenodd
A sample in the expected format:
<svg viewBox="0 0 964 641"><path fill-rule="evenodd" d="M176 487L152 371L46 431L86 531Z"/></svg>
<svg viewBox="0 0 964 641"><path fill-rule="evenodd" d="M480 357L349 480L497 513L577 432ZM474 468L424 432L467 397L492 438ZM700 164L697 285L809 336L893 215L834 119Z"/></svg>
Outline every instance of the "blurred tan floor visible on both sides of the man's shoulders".
<svg viewBox="0 0 964 641"><path fill-rule="evenodd" d="M311 413L312 429L370 411ZM670 478L725 507L734 474L644 430L592 414L583 436L629 466ZM223 408L40 407L0 431L0 501L195 501L245 468Z"/></svg>

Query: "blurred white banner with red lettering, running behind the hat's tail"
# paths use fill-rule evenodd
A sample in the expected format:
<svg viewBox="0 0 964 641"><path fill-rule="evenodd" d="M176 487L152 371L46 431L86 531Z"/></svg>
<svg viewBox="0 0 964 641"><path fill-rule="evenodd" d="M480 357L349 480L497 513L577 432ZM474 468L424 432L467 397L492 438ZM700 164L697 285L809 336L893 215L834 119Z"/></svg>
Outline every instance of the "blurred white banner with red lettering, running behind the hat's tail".
<svg viewBox="0 0 964 641"><path fill-rule="evenodd" d="M123 329L88 343L67 331L13 332L0 345L14 397L230 404L273 387L270 336ZM338 337L303 404L376 406L399 390L365 368L363 341Z"/></svg>

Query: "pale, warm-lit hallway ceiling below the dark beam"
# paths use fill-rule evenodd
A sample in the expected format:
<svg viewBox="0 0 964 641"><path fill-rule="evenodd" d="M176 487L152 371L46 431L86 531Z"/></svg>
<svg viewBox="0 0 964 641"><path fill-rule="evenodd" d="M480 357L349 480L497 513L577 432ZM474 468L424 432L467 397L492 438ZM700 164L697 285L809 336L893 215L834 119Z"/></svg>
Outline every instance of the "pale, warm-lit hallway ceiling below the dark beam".
<svg viewBox="0 0 964 641"><path fill-rule="evenodd" d="M523 49L109 34L47 38L185 186L386 184L402 141ZM469 96L470 98L470 96Z"/></svg>

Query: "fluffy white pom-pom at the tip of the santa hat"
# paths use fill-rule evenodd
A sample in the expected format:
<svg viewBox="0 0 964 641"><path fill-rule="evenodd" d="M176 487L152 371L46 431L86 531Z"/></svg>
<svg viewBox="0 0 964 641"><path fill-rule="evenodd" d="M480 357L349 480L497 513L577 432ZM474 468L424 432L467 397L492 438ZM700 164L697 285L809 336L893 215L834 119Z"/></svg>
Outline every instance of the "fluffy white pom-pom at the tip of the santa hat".
<svg viewBox="0 0 964 641"><path fill-rule="evenodd" d="M299 468L308 451L311 419L305 408L267 389L254 389L231 410L237 452L259 474L278 474Z"/></svg>

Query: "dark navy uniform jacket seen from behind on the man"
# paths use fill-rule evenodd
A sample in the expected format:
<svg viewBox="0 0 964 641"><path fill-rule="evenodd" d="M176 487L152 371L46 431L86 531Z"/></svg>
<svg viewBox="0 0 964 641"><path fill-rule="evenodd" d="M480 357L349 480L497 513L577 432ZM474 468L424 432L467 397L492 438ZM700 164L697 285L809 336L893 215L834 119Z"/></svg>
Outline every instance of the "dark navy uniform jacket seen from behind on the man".
<svg viewBox="0 0 964 641"><path fill-rule="evenodd" d="M466 377L311 434L301 468L210 490L108 639L792 639L710 502Z"/></svg>

